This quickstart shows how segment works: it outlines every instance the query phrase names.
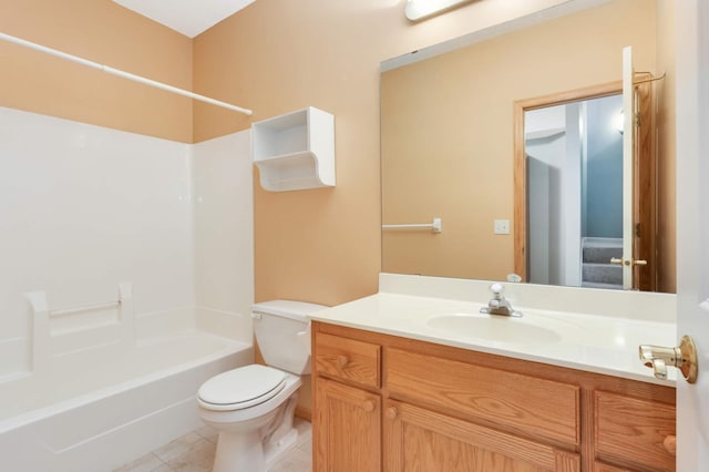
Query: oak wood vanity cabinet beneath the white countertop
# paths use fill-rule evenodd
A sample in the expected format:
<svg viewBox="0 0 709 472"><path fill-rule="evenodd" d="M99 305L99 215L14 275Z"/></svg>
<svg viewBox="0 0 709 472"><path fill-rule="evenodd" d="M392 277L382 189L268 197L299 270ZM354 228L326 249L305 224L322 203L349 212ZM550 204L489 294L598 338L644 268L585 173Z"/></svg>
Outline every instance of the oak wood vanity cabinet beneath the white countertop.
<svg viewBox="0 0 709 472"><path fill-rule="evenodd" d="M675 389L314 322L318 472L665 472Z"/></svg>

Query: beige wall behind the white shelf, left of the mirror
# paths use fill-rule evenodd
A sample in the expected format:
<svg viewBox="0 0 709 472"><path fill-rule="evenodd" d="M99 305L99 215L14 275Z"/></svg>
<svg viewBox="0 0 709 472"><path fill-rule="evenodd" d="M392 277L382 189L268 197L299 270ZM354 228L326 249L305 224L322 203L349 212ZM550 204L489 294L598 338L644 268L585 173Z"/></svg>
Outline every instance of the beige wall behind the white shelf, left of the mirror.
<svg viewBox="0 0 709 472"><path fill-rule="evenodd" d="M196 39L201 93L251 107L256 121L308 105L335 114L335 188L267 193L255 181L256 300L335 305L377 291L379 63L558 1L518 3L411 24L401 1L259 0ZM195 105L197 141L246 126Z"/></svg>

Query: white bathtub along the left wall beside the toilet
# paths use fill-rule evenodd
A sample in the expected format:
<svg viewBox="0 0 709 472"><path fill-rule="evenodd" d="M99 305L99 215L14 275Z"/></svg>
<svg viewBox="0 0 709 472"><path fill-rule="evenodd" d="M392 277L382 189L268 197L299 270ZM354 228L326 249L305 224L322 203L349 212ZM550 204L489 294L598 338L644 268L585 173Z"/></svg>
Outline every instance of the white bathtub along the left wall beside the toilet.
<svg viewBox="0 0 709 472"><path fill-rule="evenodd" d="M201 427L199 384L254 359L248 342L147 331L129 345L51 353L41 369L0 379L0 469L112 471Z"/></svg>

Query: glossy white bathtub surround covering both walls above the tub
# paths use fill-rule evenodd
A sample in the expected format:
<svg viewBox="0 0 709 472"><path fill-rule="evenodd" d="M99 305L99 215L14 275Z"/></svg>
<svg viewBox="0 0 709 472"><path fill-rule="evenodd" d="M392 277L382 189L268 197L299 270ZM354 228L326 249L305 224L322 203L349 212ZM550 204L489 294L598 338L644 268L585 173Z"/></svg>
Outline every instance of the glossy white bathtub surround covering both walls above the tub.
<svg viewBox="0 0 709 472"><path fill-rule="evenodd" d="M137 317L196 306L250 342L248 132L188 145L10 109L0 123L0 378L30 370L30 291L51 310L130 280Z"/></svg>

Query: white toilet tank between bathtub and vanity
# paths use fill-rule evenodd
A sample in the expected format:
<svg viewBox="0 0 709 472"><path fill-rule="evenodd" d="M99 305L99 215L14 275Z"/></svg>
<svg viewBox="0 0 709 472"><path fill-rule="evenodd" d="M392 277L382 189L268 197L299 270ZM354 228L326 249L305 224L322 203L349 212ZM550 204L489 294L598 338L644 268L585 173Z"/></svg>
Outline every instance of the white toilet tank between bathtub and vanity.
<svg viewBox="0 0 709 472"><path fill-rule="evenodd" d="M298 376L310 373L310 353L302 340L298 340L298 334L308 327L306 315L325 308L292 300L255 304L251 307L254 331L266 363Z"/></svg>

